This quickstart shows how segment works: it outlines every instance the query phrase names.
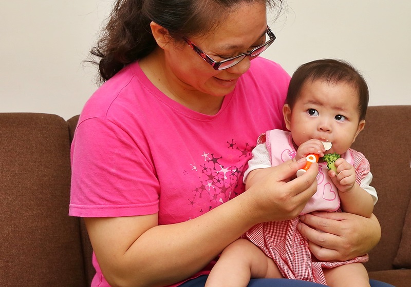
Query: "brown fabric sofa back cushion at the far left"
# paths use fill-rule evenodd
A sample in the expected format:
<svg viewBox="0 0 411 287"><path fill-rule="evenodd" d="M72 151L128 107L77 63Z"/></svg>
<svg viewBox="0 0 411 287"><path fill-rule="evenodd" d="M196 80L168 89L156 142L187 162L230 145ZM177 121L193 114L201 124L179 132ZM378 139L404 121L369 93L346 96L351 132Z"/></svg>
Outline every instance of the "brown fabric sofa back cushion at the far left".
<svg viewBox="0 0 411 287"><path fill-rule="evenodd" d="M0 155L0 285L86 286L66 121L1 113Z"/></svg>

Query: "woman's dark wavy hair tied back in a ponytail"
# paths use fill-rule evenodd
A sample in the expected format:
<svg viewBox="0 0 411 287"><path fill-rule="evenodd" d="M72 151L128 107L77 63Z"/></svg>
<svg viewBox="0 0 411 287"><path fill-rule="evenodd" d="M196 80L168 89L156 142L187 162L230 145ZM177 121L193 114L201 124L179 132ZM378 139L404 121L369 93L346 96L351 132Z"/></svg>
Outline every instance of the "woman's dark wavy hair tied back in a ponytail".
<svg viewBox="0 0 411 287"><path fill-rule="evenodd" d="M102 31L102 37L90 52L99 65L102 81L113 77L126 65L150 54L157 43L150 23L168 30L173 39L204 35L239 4L261 3L276 7L281 0L117 0Z"/></svg>

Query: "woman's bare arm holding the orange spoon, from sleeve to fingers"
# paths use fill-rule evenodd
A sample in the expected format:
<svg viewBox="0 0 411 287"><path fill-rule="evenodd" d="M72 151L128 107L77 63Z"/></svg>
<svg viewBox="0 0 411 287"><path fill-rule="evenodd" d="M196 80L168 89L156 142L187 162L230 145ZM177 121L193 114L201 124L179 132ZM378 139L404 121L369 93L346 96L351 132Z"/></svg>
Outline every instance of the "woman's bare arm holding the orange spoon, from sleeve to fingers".
<svg viewBox="0 0 411 287"><path fill-rule="evenodd" d="M157 215L85 218L112 286L163 286L204 268L254 224L293 218L316 191L317 166L290 181L305 160L264 169L260 182L195 219L158 226Z"/></svg>

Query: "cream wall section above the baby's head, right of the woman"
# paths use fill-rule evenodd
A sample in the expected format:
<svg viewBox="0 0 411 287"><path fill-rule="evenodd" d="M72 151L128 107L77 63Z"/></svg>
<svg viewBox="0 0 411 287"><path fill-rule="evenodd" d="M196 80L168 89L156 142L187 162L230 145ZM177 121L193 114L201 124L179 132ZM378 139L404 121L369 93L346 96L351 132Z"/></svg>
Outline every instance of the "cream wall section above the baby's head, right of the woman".
<svg viewBox="0 0 411 287"><path fill-rule="evenodd" d="M411 104L411 2L289 0L265 56L292 73L307 61L343 58L367 80L370 106Z"/></svg>

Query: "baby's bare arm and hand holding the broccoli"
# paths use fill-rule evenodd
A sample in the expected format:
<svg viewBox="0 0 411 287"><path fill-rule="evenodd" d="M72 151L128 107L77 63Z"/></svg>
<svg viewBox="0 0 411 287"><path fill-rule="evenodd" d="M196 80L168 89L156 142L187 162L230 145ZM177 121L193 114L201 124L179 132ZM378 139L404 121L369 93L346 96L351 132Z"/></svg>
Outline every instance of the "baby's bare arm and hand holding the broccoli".
<svg viewBox="0 0 411 287"><path fill-rule="evenodd" d="M343 158L335 161L335 167L337 174L333 170L329 170L328 174L338 189L342 210L369 218L374 208L373 198L356 182L354 167Z"/></svg>

